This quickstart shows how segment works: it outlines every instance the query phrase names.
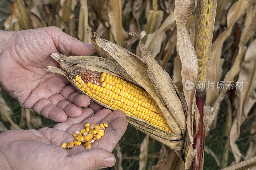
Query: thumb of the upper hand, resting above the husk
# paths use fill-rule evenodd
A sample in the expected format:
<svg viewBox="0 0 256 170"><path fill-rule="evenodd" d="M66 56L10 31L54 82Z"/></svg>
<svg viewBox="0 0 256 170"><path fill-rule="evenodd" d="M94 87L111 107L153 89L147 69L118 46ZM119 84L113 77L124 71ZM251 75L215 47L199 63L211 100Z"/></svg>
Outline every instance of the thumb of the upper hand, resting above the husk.
<svg viewBox="0 0 256 170"><path fill-rule="evenodd" d="M57 49L75 56L89 56L96 52L92 44L86 44L61 31L58 27L45 27Z"/></svg>

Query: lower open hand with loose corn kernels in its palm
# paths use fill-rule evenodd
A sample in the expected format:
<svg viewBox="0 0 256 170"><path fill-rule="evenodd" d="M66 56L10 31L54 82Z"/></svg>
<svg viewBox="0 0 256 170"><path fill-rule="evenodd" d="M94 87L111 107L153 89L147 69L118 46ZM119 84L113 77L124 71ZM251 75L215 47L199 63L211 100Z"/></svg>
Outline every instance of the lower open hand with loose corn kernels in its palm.
<svg viewBox="0 0 256 170"><path fill-rule="evenodd" d="M84 108L81 117L68 117L53 128L10 130L0 134L0 165L2 169L99 169L115 164L111 153L127 127L125 114L103 109L93 115ZM63 142L75 140L72 134L84 128L86 122L107 123L109 126L92 149L84 145L62 149Z"/></svg>

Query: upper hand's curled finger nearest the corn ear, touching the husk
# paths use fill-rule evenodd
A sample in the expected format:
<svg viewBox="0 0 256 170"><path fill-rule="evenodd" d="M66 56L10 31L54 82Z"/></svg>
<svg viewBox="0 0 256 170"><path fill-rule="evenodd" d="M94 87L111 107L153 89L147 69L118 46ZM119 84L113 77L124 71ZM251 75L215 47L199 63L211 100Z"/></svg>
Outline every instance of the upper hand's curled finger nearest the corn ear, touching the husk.
<svg viewBox="0 0 256 170"><path fill-rule="evenodd" d="M60 94L64 96L66 100L74 103L78 107L86 107L90 104L90 97L79 93L73 86L68 85L64 87Z"/></svg>

